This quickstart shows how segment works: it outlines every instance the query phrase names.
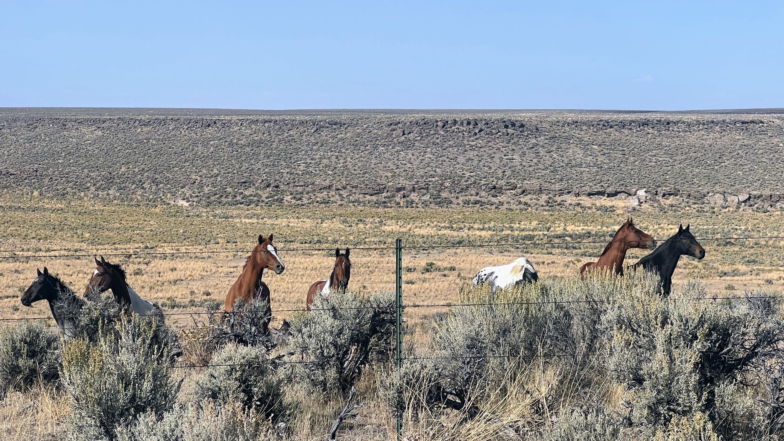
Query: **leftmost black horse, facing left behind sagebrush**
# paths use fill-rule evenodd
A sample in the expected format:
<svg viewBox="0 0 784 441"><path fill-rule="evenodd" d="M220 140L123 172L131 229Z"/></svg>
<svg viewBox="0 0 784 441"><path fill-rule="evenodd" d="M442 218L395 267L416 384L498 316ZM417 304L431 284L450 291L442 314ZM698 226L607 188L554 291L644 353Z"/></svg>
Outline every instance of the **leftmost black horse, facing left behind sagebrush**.
<svg viewBox="0 0 784 441"><path fill-rule="evenodd" d="M36 271L38 277L22 294L22 304L29 307L37 301L48 301L57 324L57 333L62 333L66 341L71 340L75 334L76 318L69 317L68 314L81 310L85 305L84 299L76 297L74 291L60 278L49 274L49 268L44 267L44 272L36 268Z"/></svg>

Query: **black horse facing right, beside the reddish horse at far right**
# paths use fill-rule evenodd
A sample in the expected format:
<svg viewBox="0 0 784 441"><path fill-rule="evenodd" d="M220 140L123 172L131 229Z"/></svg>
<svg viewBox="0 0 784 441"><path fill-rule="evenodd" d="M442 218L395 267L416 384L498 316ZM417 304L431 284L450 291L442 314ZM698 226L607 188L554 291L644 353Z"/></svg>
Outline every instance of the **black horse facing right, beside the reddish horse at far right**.
<svg viewBox="0 0 784 441"><path fill-rule="evenodd" d="M678 232L662 243L653 253L640 259L632 268L643 268L647 272L659 275L659 290L665 296L670 295L673 286L673 273L681 256L691 256L697 259L705 257L705 249L691 234L687 224L678 226Z"/></svg>

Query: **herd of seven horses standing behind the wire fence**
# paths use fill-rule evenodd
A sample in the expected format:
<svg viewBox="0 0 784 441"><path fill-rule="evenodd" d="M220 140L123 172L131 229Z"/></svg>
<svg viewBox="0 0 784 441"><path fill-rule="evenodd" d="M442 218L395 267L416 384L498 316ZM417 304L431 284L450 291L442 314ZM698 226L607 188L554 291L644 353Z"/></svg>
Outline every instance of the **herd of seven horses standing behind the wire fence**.
<svg viewBox="0 0 784 441"><path fill-rule="evenodd" d="M632 248L653 250L652 253L641 258L632 268L642 268L646 272L659 275L659 290L662 295L669 295L672 287L672 276L681 256L687 255L702 259L705 249L697 242L689 231L690 225L679 226L675 235L667 239L661 246L656 247L656 240L635 227L631 218L627 219L615 232L607 246L604 247L598 260L584 264L580 268L580 276L594 272L608 274L623 274L623 261L626 252ZM43 272L38 269L38 276L22 294L21 302L24 306L31 306L36 301L48 301L49 309L55 319L57 330L63 333L66 339L74 336L75 320L67 311L78 311L85 304L96 298L96 293L111 290L114 299L122 311L136 315L156 315L160 312L157 304L143 300L139 294L128 284L125 271L119 264L111 264L103 256L100 260L95 257L96 268L90 276L84 297L78 297L71 288L55 275L49 273L49 268L44 267ZM264 237L259 235L258 243L253 248L250 256L245 261L234 285L231 286L226 296L224 308L227 312L234 309L238 299L243 301L258 300L266 305L267 317L271 317L270 288L263 282L264 270L281 274L285 265L278 256L278 248L272 242L272 235ZM345 291L351 275L350 250L341 252L335 250L335 265L328 279L318 280L310 285L305 301L307 311L320 296L328 296L335 291ZM474 277L474 284L486 284L492 290L499 290L507 286L516 286L521 283L534 283L539 280L531 261L520 257L511 264L482 268ZM269 323L263 324L263 332L267 333Z"/></svg>

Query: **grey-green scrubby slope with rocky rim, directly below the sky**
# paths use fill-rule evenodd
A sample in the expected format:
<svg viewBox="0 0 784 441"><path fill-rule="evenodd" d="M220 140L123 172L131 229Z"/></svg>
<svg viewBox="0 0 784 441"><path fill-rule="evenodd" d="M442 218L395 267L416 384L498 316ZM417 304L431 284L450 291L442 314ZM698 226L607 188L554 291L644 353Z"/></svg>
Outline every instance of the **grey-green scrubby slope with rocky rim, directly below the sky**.
<svg viewBox="0 0 784 441"><path fill-rule="evenodd" d="M784 202L775 110L0 109L0 145L0 189L53 196Z"/></svg>

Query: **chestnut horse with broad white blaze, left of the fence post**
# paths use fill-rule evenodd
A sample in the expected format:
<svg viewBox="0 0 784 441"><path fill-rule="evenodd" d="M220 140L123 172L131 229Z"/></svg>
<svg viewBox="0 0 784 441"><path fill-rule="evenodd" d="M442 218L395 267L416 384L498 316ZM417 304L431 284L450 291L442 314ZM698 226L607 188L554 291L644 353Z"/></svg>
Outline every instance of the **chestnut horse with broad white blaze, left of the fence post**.
<svg viewBox="0 0 784 441"><path fill-rule="evenodd" d="M253 248L248 259L245 260L237 281L226 294L226 303L223 308L227 312L231 312L237 299L241 298L248 302L256 297L261 297L267 303L267 317L271 319L270 287L261 280L265 269L274 271L275 274L281 274L285 270L283 261L278 257L278 248L272 244L272 235L266 238L259 235L259 242ZM269 325L269 320L263 323L264 333L267 333Z"/></svg>

